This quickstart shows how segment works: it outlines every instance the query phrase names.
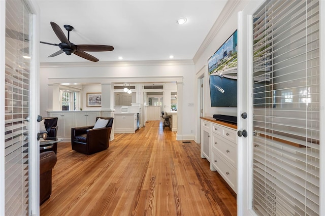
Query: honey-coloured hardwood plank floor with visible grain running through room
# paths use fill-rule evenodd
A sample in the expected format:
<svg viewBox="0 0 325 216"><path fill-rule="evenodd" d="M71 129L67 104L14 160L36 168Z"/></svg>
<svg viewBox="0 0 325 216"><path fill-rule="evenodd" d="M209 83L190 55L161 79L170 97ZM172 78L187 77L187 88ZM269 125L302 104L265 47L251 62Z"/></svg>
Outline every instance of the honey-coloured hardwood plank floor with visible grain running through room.
<svg viewBox="0 0 325 216"><path fill-rule="evenodd" d="M89 156L58 143L41 215L237 214L236 198L196 142L177 141L159 121L114 136L107 150Z"/></svg>

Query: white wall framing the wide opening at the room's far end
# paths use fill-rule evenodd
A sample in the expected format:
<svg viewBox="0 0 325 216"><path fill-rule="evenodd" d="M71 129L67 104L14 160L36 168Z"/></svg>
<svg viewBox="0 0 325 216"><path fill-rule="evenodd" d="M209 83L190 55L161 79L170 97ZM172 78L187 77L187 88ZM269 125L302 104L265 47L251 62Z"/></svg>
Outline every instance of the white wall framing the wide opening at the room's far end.
<svg viewBox="0 0 325 216"><path fill-rule="evenodd" d="M108 62L79 64L41 64L41 115L46 116L48 85L55 83L101 84L101 83L182 83L183 110L178 111L186 125L177 131L178 137L194 137L194 65L192 61ZM126 66L125 66L126 65ZM86 85L84 85L85 87ZM87 92L84 89L84 92ZM179 96L179 95L178 95ZM83 109L86 106L83 105ZM192 117L192 118L189 118Z"/></svg>

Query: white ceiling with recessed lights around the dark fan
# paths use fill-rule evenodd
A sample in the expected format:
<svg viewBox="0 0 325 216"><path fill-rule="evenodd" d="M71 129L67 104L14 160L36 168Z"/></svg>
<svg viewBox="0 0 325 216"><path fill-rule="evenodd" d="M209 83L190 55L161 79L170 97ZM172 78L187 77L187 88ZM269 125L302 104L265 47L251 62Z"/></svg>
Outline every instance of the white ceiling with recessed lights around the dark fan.
<svg viewBox="0 0 325 216"><path fill-rule="evenodd" d="M111 45L114 51L88 52L100 61L191 60L224 7L226 0L210 1L63 1L39 0L43 42L58 44L50 21L64 33L64 24L72 25L70 42ZM178 25L176 20L186 17ZM67 34L66 34L67 35ZM41 62L89 62L79 56L62 53L41 44Z"/></svg>

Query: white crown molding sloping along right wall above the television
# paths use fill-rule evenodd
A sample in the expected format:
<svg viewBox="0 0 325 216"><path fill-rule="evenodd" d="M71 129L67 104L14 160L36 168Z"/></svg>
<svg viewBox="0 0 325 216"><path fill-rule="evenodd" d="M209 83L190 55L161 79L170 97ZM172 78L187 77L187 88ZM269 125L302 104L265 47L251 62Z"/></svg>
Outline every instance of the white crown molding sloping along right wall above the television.
<svg viewBox="0 0 325 216"><path fill-rule="evenodd" d="M213 24L211 30L207 34L207 37L202 42L200 48L198 49L197 53L193 57L193 62L196 63L203 52L207 49L207 47L211 44L211 41L215 38L216 34L223 26L223 24L229 20L229 17L233 15L236 7L239 5L241 0L233 0L227 1L226 5L222 9L220 15L218 16L217 20Z"/></svg>

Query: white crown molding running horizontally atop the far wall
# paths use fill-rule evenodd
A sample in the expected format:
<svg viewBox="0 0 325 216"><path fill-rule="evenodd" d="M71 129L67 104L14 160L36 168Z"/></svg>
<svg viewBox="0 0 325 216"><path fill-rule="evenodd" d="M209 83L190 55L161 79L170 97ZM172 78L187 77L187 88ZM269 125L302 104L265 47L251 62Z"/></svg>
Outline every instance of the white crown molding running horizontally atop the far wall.
<svg viewBox="0 0 325 216"><path fill-rule="evenodd" d="M101 62L43 62L40 67L105 67L105 66L152 66L194 65L193 60L150 60L150 61L101 61Z"/></svg>

